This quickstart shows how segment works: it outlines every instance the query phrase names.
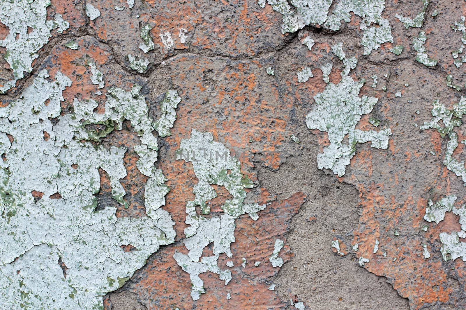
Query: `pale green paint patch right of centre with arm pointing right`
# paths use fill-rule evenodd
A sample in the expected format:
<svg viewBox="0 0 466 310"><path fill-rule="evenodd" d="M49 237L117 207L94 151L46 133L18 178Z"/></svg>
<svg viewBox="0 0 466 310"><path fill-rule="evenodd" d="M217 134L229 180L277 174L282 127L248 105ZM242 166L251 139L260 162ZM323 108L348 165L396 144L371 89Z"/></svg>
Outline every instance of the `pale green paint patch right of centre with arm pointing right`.
<svg viewBox="0 0 466 310"><path fill-rule="evenodd" d="M319 169L330 169L342 177L346 165L356 153L357 143L370 141L372 147L386 149L391 130L387 128L377 132L356 129L361 116L370 113L378 99L358 96L363 82L356 82L348 76L357 64L356 58L346 58L341 43L331 48L343 60L342 79L338 84L328 83L325 90L314 97L315 105L306 116L306 124L309 129L328 132L330 145L317 155ZM348 144L343 142L346 135L349 137Z"/></svg>

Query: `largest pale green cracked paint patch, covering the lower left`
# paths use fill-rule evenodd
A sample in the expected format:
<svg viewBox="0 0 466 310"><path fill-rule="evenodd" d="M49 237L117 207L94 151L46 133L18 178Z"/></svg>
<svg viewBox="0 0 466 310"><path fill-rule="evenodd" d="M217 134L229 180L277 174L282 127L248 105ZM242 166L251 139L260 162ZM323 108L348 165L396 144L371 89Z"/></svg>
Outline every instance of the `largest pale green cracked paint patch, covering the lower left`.
<svg viewBox="0 0 466 310"><path fill-rule="evenodd" d="M161 245L174 242L174 222L160 208L167 192L161 172L146 184L148 216L117 218L111 206L96 210L99 168L109 175L114 197L123 200L126 150L82 142L87 133L81 119L86 124L112 120L118 127L126 118L137 128L142 125L131 115L141 113L140 120L148 115L124 101L131 96L147 108L144 98L136 91L110 90L104 115L93 112L93 99L76 99L75 112L61 115L62 91L69 86L71 80L62 73L52 80L42 70L19 99L0 108L0 148L7 154L0 163L0 231L8 232L0 241L1 309L103 309L103 295L121 287ZM119 96L118 102L113 96ZM50 136L47 141L43 132ZM42 192L42 198L34 201L32 191ZM60 198L50 198L55 193ZM123 251L128 244L136 251Z"/></svg>

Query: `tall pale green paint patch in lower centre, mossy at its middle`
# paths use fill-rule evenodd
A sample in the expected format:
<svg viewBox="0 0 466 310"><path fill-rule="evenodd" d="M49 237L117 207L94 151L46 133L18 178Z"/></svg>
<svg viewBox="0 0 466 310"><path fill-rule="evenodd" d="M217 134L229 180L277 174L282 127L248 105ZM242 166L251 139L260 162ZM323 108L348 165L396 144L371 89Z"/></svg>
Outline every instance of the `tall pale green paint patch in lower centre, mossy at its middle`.
<svg viewBox="0 0 466 310"><path fill-rule="evenodd" d="M191 138L181 141L177 155L178 159L192 163L194 174L199 179L193 190L194 200L186 202L185 223L189 226L185 228L184 244L188 254L177 252L173 255L178 265L190 274L191 296L193 300L197 300L205 291L199 274L210 270L219 274L220 280L225 280L225 285L231 280L230 270L221 270L217 261L222 253L227 257L233 256L230 244L235 241L235 219L248 213L253 220L257 220L257 212L266 205L244 203L245 189L253 188L254 185L240 171L239 160L230 154L225 145L213 141L212 133L193 129ZM233 198L226 199L222 205L224 213L207 218L202 215L210 212L206 202L217 196L211 184L225 186ZM201 209L200 215L196 211L197 207ZM203 257L204 248L210 243L213 243L213 255ZM246 266L245 258L242 265Z"/></svg>

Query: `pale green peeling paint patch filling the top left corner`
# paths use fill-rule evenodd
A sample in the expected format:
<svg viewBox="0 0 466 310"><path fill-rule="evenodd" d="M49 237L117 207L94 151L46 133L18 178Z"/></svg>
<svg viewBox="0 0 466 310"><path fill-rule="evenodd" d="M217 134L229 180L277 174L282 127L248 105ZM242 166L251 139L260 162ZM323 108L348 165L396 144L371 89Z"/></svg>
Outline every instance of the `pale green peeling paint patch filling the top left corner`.
<svg viewBox="0 0 466 310"><path fill-rule="evenodd" d="M48 0L0 1L0 22L9 29L0 46L5 47L4 58L13 71L13 79L0 86L0 94L14 87L25 72L31 73L33 61L39 57L37 52L48 43L52 29L62 33L69 28L61 14L55 14L55 20L47 20L48 6Z"/></svg>

